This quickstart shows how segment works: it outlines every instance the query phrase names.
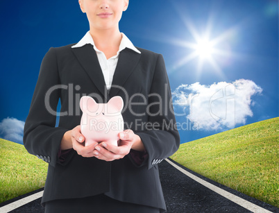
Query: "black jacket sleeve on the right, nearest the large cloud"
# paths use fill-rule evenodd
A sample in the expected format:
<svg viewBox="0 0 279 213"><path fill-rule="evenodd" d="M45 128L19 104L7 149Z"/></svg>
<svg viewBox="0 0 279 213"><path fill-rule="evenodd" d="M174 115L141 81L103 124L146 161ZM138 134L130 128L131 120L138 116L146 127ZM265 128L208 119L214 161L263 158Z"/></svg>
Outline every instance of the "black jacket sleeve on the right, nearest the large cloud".
<svg viewBox="0 0 279 213"><path fill-rule="evenodd" d="M147 164L150 169L164 158L173 155L180 145L171 101L171 89L162 55L158 55L148 103L149 119L146 128L143 132L136 134L142 139L148 153L142 165Z"/></svg>

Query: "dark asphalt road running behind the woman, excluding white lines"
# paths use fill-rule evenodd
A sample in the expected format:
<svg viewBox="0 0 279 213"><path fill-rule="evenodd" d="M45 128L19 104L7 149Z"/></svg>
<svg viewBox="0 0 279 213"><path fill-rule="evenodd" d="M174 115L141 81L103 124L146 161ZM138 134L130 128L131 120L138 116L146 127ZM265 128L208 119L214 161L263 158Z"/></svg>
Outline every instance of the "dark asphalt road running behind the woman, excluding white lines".
<svg viewBox="0 0 279 213"><path fill-rule="evenodd" d="M176 162L174 162L176 163ZM177 163L176 163L177 164ZM179 165L179 164L178 164ZM180 166L180 165L179 165ZM180 166L182 167L182 166ZM277 207L273 207L267 203L262 201L258 201L255 198L251 198L246 196L238 191L225 187L223 185L218 184L208 178L198 175L189 169L182 167L189 173L198 176L199 178L210 182L212 185L215 185L221 189L225 189L229 191L231 194L235 194L240 198L244 198L246 201L254 203L260 207L263 207L270 212L279 212ZM201 185L200 183L196 182L192 178L189 178L181 171L175 169L171 164L167 161L162 161L159 164L160 169L160 178L162 182L162 189L164 191L164 197L167 204L167 211L169 213L184 213L184 212L251 212L246 208L237 205L233 201L230 201L228 198L225 198L217 192L208 189L207 187ZM40 191L39 189L37 191ZM34 191L34 192L37 192ZM34 193L33 192L33 193ZM32 193L31 193L32 194ZM6 205L8 203L12 203L24 196L20 196L18 198L12 199L10 201L6 201L5 203L1 203L0 207ZM44 212L44 208L40 205L41 198L38 198L31 203L27 203L26 205L22 205L22 207L18 207L15 210L10 212ZM0 208L1 212L1 208ZM262 211L261 211L262 212ZM145 212L143 212L145 213Z"/></svg>

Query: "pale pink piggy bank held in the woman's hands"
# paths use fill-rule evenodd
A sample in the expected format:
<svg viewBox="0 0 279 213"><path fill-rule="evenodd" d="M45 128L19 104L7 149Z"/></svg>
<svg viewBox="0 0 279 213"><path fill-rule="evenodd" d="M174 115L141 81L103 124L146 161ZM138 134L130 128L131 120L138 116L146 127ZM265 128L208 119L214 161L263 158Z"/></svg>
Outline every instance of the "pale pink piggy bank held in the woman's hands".
<svg viewBox="0 0 279 213"><path fill-rule="evenodd" d="M124 130L121 110L124 102L121 96L114 96L108 103L96 103L90 96L81 97L81 133L85 146L94 142L108 142L117 146L118 134Z"/></svg>

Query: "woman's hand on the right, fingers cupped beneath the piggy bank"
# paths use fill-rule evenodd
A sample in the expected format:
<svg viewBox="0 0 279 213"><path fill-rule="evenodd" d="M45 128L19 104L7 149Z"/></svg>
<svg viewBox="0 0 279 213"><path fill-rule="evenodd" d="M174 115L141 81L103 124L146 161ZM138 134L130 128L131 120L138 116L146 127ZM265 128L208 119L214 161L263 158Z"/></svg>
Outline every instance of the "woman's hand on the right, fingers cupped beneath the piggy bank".
<svg viewBox="0 0 279 213"><path fill-rule="evenodd" d="M100 160L112 161L118 160L130 153L130 149L144 151L144 144L138 135L135 135L133 130L124 130L119 133L119 146L101 142L95 146L94 157Z"/></svg>

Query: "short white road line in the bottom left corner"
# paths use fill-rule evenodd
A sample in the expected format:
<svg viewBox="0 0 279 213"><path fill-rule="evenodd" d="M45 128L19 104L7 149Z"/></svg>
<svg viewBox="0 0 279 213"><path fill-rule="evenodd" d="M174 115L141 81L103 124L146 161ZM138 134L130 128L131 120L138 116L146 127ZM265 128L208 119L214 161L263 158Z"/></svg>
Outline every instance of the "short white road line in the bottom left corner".
<svg viewBox="0 0 279 213"><path fill-rule="evenodd" d="M26 203L35 201L37 198L41 198L43 193L44 193L44 191L39 191L36 194L32 194L31 196L22 198L18 201L8 204L8 205L4 205L3 207L0 207L0 213L10 212L12 210L15 210L18 207L21 207L22 205L25 205Z"/></svg>

